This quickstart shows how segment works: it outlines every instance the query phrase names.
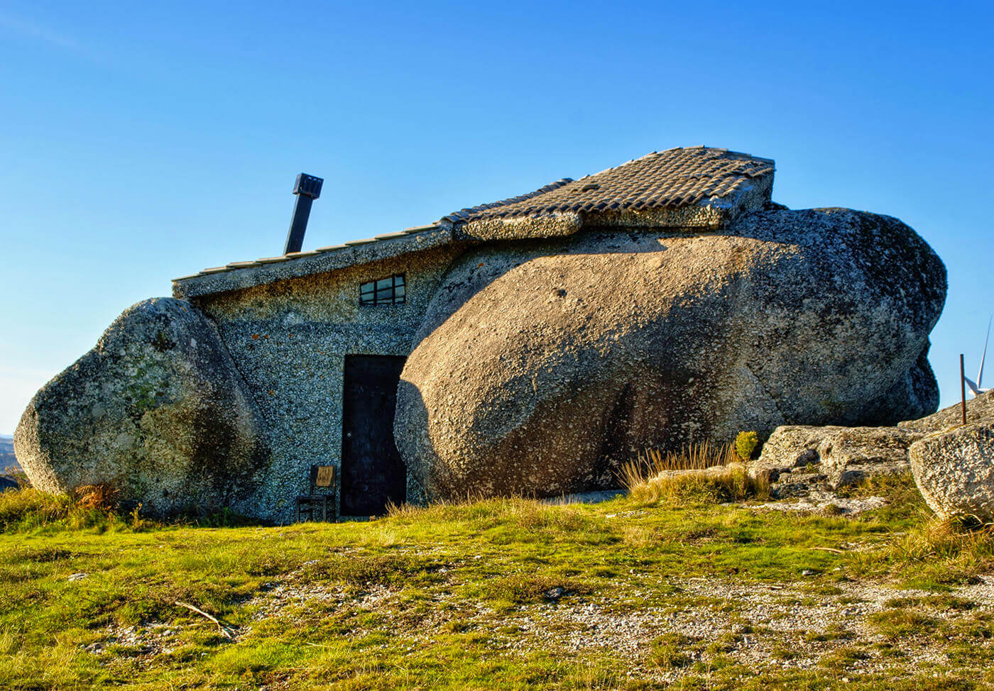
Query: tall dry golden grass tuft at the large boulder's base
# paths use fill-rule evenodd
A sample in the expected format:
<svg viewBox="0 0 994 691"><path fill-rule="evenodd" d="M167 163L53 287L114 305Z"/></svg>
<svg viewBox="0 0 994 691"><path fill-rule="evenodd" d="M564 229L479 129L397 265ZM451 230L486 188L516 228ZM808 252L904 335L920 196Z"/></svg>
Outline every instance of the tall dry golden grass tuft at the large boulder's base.
<svg viewBox="0 0 994 691"><path fill-rule="evenodd" d="M769 483L746 473L735 445L699 442L680 452L647 449L626 463L619 480L636 501L691 498L741 501L768 498Z"/></svg>

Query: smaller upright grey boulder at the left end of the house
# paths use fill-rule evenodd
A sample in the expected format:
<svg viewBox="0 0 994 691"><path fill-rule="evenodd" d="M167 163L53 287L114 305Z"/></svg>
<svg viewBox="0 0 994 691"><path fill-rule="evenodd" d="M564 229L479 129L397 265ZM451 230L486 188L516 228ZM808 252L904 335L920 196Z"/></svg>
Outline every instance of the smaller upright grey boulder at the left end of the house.
<svg viewBox="0 0 994 691"><path fill-rule="evenodd" d="M14 434L34 486L111 484L149 513L233 506L259 481L263 424L214 326L146 300L32 399Z"/></svg>

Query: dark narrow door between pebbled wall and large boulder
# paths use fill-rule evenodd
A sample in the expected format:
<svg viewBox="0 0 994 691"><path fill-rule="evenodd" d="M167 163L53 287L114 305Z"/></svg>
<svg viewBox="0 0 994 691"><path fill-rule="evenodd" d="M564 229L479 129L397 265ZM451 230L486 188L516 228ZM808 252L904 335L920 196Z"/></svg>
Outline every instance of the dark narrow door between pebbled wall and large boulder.
<svg viewBox="0 0 994 691"><path fill-rule="evenodd" d="M346 355L342 398L342 515L384 513L407 498L407 470L394 443L404 357Z"/></svg>

